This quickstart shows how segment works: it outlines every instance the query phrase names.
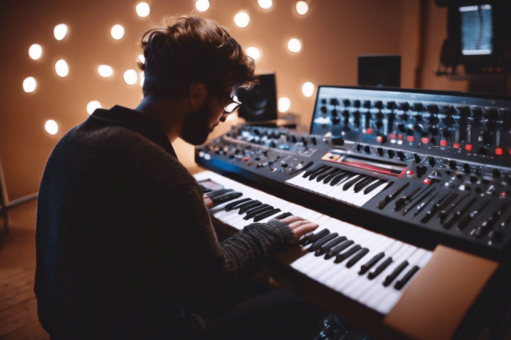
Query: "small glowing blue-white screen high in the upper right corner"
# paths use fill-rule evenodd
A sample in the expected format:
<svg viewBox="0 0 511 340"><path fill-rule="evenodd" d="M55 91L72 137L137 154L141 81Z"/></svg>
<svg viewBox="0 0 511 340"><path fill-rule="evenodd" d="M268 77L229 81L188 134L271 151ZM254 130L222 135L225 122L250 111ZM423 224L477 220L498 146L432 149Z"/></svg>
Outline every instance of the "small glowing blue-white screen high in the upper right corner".
<svg viewBox="0 0 511 340"><path fill-rule="evenodd" d="M459 8L459 12L463 56L492 54L492 5L462 6Z"/></svg>

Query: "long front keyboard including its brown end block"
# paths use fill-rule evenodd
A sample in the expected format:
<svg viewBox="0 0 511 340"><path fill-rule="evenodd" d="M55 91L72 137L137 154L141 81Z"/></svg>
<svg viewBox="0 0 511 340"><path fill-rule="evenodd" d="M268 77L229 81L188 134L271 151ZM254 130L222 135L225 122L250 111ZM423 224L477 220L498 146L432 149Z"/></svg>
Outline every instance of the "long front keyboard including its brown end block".
<svg viewBox="0 0 511 340"><path fill-rule="evenodd" d="M213 219L233 231L289 214L319 224L300 245L276 255L270 264L272 276L286 288L377 339L471 338L471 323L462 321L497 269L496 262L443 246L434 251L416 247L212 171L194 176L206 195L238 193L210 209Z"/></svg>

